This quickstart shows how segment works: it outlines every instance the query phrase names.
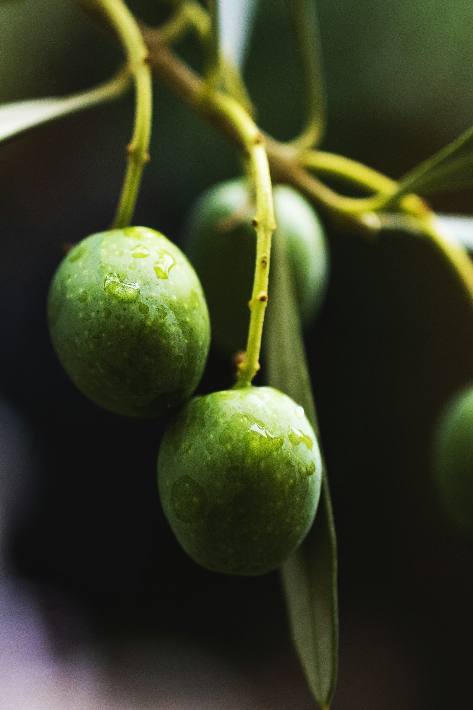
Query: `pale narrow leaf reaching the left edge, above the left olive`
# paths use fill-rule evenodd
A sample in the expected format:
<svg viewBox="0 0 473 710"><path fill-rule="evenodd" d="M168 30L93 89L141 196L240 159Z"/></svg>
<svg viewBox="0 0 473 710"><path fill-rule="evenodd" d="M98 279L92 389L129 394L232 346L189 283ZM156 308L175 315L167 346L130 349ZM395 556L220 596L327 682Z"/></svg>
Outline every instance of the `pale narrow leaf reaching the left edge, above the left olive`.
<svg viewBox="0 0 473 710"><path fill-rule="evenodd" d="M130 72L125 67L111 80L84 92L65 97L0 104L0 141L12 138L34 126L59 119L61 116L116 99L126 92L130 83Z"/></svg>

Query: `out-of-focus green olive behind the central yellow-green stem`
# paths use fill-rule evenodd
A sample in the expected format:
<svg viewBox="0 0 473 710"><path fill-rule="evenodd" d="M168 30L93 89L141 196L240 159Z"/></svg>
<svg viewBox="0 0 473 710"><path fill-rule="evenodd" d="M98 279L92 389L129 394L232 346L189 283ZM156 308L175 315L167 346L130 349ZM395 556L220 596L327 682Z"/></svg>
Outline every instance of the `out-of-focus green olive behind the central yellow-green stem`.
<svg viewBox="0 0 473 710"><path fill-rule="evenodd" d="M278 229L288 246L301 318L308 324L323 302L329 255L323 227L307 200L286 185L274 187ZM233 354L245 349L255 272L255 204L246 180L211 187L189 217L186 251L206 293L213 343ZM271 302L271 271L269 271Z"/></svg>

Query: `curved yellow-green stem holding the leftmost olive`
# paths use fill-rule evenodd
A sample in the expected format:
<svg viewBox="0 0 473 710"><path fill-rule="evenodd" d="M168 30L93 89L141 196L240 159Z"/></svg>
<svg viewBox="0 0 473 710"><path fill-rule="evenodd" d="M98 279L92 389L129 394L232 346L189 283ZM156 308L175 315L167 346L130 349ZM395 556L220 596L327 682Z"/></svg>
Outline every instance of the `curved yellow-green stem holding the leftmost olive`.
<svg viewBox="0 0 473 710"><path fill-rule="evenodd" d="M149 53L135 18L122 0L95 0L95 4L120 38L135 82L135 124L126 149L125 180L113 219L113 227L123 227L130 224L133 218L143 167L150 159L152 80Z"/></svg>

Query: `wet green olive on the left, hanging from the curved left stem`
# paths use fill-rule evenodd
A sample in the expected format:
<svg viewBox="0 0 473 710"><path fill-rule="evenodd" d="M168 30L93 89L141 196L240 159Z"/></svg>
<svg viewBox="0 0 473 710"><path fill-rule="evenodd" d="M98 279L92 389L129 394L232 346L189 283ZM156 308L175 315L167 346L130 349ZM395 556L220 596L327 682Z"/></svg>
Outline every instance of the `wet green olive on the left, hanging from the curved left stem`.
<svg viewBox="0 0 473 710"><path fill-rule="evenodd" d="M96 404L159 417L194 392L210 342L199 278L157 231L93 234L64 258L48 322L62 366Z"/></svg>

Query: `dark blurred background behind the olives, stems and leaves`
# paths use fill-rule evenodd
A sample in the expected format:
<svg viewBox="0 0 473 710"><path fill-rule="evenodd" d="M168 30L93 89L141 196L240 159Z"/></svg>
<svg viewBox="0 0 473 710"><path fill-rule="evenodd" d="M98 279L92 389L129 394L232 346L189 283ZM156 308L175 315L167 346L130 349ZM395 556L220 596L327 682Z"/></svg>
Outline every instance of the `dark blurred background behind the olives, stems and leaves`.
<svg viewBox="0 0 473 710"><path fill-rule="evenodd" d="M150 23L165 16L155 0L129 4ZM323 148L397 178L473 124L471 2L319 0L318 9ZM193 40L179 51L199 66ZM0 102L85 89L120 58L70 2L0 6ZM304 89L283 0L260 2L245 78L262 127L293 137ZM45 301L62 244L109 224L132 119L128 96L0 146L0 429L24 459L0 476L4 577L28 590L50 657L88 650L126 707L210 708L212 692L222 709L309 709L277 574L218 576L184 555L155 484L165 422L89 403L50 345ZM193 200L237 174L238 160L159 84L150 153L135 223L179 244ZM472 197L433 206L471 214ZM473 379L471 312L421 241L393 233L367 244L329 225L328 236L330 288L307 354L340 553L333 710L469 708L473 545L443 516L430 444L441 408ZM231 380L230 363L212 353L199 390Z"/></svg>

